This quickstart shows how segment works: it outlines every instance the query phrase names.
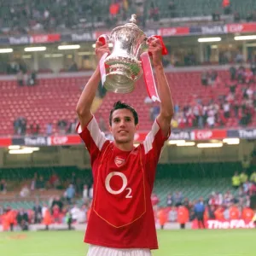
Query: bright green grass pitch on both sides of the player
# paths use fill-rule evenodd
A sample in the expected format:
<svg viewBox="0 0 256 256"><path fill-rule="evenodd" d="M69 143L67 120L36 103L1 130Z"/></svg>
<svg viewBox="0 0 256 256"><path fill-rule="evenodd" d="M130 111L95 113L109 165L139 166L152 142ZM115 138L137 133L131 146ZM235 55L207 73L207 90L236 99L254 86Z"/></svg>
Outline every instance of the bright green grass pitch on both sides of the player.
<svg viewBox="0 0 256 256"><path fill-rule="evenodd" d="M161 230L154 256L256 256L256 230ZM85 256L84 232L0 233L1 256Z"/></svg>

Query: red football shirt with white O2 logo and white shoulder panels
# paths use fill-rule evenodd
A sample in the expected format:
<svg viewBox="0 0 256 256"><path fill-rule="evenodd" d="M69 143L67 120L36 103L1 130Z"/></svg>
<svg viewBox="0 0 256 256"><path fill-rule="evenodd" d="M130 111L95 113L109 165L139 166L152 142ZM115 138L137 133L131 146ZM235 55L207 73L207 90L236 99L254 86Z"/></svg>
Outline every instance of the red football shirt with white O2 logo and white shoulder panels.
<svg viewBox="0 0 256 256"><path fill-rule="evenodd" d="M94 198L84 241L102 247L157 249L150 195L164 137L155 121L132 151L116 148L93 117L77 131L90 152Z"/></svg>

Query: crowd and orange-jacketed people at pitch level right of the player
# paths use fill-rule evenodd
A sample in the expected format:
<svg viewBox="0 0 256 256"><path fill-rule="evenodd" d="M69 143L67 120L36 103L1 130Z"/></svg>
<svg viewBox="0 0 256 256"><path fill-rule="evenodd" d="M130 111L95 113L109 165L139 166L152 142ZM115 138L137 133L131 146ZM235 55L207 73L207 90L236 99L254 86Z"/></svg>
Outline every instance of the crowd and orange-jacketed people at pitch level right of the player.
<svg viewBox="0 0 256 256"><path fill-rule="evenodd" d="M205 228L206 219L217 219L220 221L230 219L243 219L252 221L254 212L251 206L251 196L256 195L256 172L253 172L248 179L245 171L235 173L232 177L232 185L236 190L232 193L230 190L223 195L220 192L213 191L207 199L200 198L196 201L189 201L184 198L181 191L168 194L166 197L166 207L159 210L160 199L156 194L152 194L151 201L154 207L156 218L160 219L160 225L164 228L166 222L178 222L181 228L189 221L198 220L199 228Z"/></svg>

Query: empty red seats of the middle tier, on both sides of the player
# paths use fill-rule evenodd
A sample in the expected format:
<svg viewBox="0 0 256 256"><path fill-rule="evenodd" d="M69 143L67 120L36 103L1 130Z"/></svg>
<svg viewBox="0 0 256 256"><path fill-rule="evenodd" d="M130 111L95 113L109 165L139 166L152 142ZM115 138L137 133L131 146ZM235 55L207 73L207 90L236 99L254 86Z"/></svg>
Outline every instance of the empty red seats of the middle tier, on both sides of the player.
<svg viewBox="0 0 256 256"><path fill-rule="evenodd" d="M226 71L218 71L221 79L229 78ZM174 102L180 107L189 104L196 96L203 101L216 99L219 95L227 95L229 88L220 84L212 89L201 85L201 72L166 73L166 77L172 88ZM88 77L39 79L34 87L18 87L15 81L0 82L0 114L2 125L0 135L14 134L14 120L20 116L27 119L27 128L33 121L38 121L41 133L44 134L45 126L49 122L54 125L54 133L57 132L56 124L60 119L71 122L76 118L75 108L79 100L82 88ZM140 118L140 130L150 129L152 121L149 118L150 104L145 104L147 96L143 79L137 83L137 88L131 94L121 96L121 100L130 103L137 109ZM108 114L113 102L120 100L119 94L108 93L102 105L96 112L96 117L102 116L108 124ZM96 105L99 102L96 103ZM256 120L253 119L253 124ZM231 117L228 127L238 126L238 120Z"/></svg>

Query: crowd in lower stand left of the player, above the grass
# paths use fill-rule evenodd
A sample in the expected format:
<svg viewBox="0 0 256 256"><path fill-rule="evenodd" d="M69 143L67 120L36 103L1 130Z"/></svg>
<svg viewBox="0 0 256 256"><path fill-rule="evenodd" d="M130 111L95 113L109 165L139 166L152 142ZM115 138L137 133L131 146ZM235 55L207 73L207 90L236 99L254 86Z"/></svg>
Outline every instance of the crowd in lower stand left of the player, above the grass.
<svg viewBox="0 0 256 256"><path fill-rule="evenodd" d="M13 210L11 207L0 207L0 224L3 230L14 230L17 226L20 230L28 230L31 224L43 224L42 229L49 229L50 224L67 224L69 230L73 223L85 223L90 214L90 202L93 197L92 185L83 184L76 173L73 172L69 185L65 189L60 177L53 172L49 180L43 176L34 174L30 184L26 183L20 190L20 198L29 199L34 191L44 191L46 189L61 189L62 195L52 195L48 201L39 203L35 201L32 209ZM1 180L0 193L7 193L7 183ZM78 198L82 198L80 206L76 204Z"/></svg>

